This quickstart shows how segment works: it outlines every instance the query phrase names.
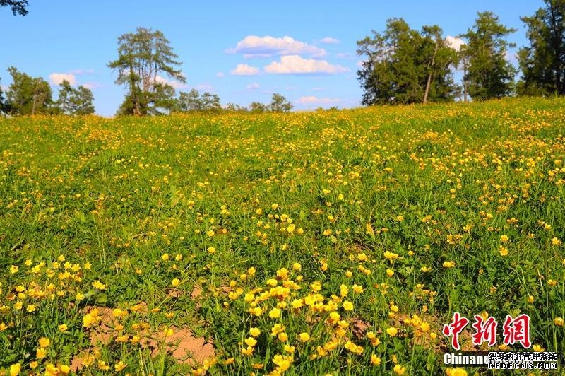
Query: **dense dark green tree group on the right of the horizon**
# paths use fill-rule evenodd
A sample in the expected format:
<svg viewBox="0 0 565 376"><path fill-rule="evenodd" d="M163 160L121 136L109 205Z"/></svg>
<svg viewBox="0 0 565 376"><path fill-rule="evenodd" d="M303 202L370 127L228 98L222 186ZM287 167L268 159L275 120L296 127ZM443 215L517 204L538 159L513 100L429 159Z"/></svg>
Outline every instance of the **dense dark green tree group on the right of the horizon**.
<svg viewBox="0 0 565 376"><path fill-rule="evenodd" d="M517 30L492 12L479 12L475 24L455 39L438 25L413 30L402 18L387 20L383 33L357 42L364 57L357 76L362 103L488 100L509 95L565 94L565 0L545 0L533 16L521 17L529 45L518 50L518 71L509 62L507 37ZM456 83L453 71L462 72Z"/></svg>

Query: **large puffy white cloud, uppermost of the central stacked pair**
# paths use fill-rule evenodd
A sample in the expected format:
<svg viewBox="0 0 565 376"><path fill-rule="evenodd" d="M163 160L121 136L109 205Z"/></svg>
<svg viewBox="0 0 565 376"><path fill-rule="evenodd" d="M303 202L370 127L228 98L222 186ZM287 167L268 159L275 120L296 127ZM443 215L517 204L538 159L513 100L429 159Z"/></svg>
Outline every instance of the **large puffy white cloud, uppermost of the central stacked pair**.
<svg viewBox="0 0 565 376"><path fill-rule="evenodd" d="M307 54L312 57L322 57L326 54L326 50L305 42L300 42L292 37L284 36L282 38L258 37L256 35L248 35L243 40L237 42L234 48L226 49L228 54L244 54L247 59L249 57L271 57L274 55L291 55L291 54Z"/></svg>

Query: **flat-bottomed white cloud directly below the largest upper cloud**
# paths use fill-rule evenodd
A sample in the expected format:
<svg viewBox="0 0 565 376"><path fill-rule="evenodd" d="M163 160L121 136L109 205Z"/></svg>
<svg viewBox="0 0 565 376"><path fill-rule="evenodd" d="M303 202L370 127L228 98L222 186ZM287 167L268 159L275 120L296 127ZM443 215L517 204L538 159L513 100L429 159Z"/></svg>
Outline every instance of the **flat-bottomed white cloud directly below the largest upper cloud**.
<svg viewBox="0 0 565 376"><path fill-rule="evenodd" d="M332 65L326 60L303 59L298 55L280 57L265 67L270 74L338 74L349 71L345 66Z"/></svg>

